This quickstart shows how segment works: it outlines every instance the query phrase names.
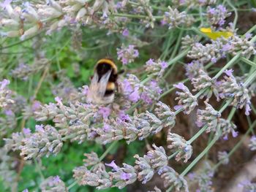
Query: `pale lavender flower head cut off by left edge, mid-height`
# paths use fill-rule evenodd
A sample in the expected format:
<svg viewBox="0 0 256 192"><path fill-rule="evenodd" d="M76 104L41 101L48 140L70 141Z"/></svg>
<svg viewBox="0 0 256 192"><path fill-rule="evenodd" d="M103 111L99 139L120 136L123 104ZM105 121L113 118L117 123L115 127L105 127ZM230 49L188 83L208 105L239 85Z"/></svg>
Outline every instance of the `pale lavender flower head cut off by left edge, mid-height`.
<svg viewBox="0 0 256 192"><path fill-rule="evenodd" d="M7 88L7 85L10 84L10 80L2 80L0 82L0 107L7 107L8 104L14 103L12 100L12 91Z"/></svg>

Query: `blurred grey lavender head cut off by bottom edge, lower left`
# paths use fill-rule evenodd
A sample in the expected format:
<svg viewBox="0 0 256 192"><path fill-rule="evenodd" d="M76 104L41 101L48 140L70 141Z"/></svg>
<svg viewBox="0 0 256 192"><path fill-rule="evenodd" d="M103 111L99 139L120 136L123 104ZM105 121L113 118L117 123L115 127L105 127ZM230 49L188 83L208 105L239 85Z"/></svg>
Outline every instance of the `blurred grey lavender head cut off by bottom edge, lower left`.
<svg viewBox="0 0 256 192"><path fill-rule="evenodd" d="M65 183L57 176L50 176L45 179L41 184L40 188L42 192L64 192L67 191Z"/></svg>

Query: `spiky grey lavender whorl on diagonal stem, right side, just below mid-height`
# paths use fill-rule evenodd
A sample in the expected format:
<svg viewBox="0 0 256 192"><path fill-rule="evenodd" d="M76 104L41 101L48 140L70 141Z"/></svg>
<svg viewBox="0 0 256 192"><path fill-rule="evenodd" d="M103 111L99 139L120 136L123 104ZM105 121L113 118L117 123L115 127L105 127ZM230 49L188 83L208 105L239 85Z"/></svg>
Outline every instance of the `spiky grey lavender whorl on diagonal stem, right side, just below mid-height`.
<svg viewBox="0 0 256 192"><path fill-rule="evenodd" d="M202 127L207 125L206 132L214 131L217 134L217 126L219 118L221 117L220 112L214 110L211 104L205 101L206 109L197 110L197 126Z"/></svg>

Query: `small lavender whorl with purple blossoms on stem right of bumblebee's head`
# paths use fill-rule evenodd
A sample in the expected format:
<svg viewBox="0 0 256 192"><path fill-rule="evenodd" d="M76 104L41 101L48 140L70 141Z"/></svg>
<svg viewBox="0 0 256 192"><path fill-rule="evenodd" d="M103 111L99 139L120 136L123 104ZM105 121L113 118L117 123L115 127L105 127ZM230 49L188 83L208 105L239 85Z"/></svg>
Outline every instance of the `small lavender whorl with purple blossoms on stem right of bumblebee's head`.
<svg viewBox="0 0 256 192"><path fill-rule="evenodd" d="M165 61L154 61L154 59L150 58L146 62L146 72L149 72L152 77L158 80L162 77L167 66L168 64Z"/></svg>

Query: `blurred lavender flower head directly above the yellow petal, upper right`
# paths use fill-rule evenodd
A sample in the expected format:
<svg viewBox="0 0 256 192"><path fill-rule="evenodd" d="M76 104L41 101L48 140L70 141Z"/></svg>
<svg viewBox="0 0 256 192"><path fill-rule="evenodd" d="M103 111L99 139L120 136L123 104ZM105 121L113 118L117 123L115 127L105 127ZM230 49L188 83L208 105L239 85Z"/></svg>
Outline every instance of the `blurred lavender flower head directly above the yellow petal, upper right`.
<svg viewBox="0 0 256 192"><path fill-rule="evenodd" d="M219 4L216 8L207 7L208 23L212 26L223 26L225 24L225 18L228 18L231 12L227 12L226 7Z"/></svg>

